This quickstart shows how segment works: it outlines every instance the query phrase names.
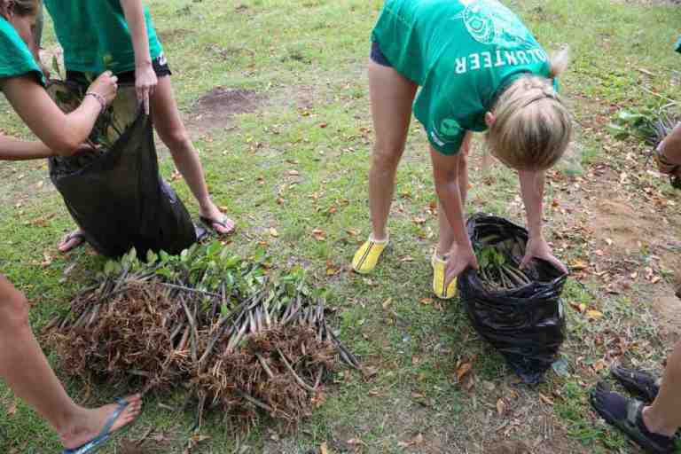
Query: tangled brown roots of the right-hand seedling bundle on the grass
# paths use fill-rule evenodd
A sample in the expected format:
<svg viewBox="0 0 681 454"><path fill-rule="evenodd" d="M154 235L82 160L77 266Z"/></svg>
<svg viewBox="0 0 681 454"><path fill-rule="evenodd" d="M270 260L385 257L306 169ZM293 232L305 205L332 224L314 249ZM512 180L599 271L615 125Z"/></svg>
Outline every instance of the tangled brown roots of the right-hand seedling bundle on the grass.
<svg viewBox="0 0 681 454"><path fill-rule="evenodd" d="M311 414L320 383L335 369L333 344L307 326L271 328L231 351L226 342L205 372L192 380L197 394L222 407L239 426L263 411L287 428Z"/></svg>

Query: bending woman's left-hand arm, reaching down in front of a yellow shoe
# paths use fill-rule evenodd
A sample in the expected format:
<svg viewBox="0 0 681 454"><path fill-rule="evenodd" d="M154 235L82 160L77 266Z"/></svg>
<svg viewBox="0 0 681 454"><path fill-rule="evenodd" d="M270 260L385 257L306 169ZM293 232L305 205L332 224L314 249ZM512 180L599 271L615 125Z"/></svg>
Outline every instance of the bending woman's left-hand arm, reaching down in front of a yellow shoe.
<svg viewBox="0 0 681 454"><path fill-rule="evenodd" d="M447 262L447 274L445 288L450 285L451 279L457 278L467 268L478 269L478 261L475 258L473 245L466 232L464 222L464 207L461 204L461 192L458 189L458 167L460 154L445 156L430 148L430 158L433 161L433 176L435 192L440 199L440 204L450 222L454 242L450 250L450 259Z"/></svg>

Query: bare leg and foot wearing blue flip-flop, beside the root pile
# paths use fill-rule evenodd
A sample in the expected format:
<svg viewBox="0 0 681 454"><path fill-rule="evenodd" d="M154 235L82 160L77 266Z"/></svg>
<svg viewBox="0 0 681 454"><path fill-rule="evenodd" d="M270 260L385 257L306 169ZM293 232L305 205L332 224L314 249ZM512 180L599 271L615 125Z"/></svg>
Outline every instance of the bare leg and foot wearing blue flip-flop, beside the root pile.
<svg viewBox="0 0 681 454"><path fill-rule="evenodd" d="M52 372L28 325L26 298L0 275L0 378L26 401L61 436L67 449L89 442L99 434L116 405L87 410L74 403ZM117 430L137 418L139 395L129 397L128 408L116 420Z"/></svg>

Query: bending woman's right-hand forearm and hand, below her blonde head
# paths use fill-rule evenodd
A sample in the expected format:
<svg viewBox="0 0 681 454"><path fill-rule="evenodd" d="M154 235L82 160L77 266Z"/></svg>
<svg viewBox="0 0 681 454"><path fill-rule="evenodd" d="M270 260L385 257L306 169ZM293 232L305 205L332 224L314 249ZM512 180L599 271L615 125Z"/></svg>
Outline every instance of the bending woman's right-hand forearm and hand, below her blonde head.
<svg viewBox="0 0 681 454"><path fill-rule="evenodd" d="M544 171L519 170L522 201L528 215L529 240L521 266L526 266L533 258L552 262L563 272L568 268L556 258L551 247L542 235L542 213L544 209Z"/></svg>

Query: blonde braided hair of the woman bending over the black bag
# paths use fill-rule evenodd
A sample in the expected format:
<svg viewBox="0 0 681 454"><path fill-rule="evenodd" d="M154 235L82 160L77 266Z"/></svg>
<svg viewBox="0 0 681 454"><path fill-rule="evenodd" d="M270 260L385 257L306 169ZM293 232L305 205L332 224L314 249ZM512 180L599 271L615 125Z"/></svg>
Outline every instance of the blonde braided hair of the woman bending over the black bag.
<svg viewBox="0 0 681 454"><path fill-rule="evenodd" d="M568 67L568 49L551 58L551 78L522 75L492 107L487 134L491 152L506 165L525 170L552 167L568 148L572 119L552 79Z"/></svg>

